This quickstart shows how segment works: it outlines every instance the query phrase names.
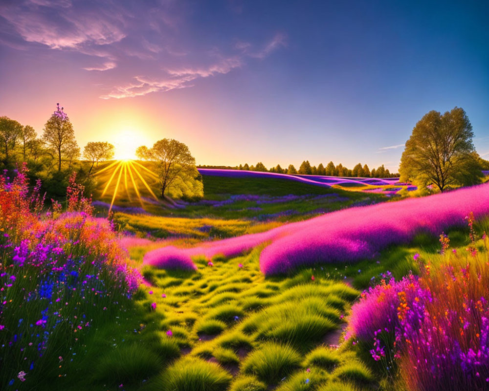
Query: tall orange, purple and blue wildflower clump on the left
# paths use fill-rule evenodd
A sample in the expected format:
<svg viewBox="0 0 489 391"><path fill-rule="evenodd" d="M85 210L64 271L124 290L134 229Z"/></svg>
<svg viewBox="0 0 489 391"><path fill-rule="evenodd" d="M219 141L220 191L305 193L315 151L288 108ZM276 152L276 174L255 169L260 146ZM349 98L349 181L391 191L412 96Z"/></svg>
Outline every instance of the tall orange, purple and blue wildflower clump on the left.
<svg viewBox="0 0 489 391"><path fill-rule="evenodd" d="M2 390L62 377L62 357L119 312L140 281L107 220L90 216L74 176L65 213L55 204L43 216L39 188L30 191L25 168L13 180L0 175Z"/></svg>

